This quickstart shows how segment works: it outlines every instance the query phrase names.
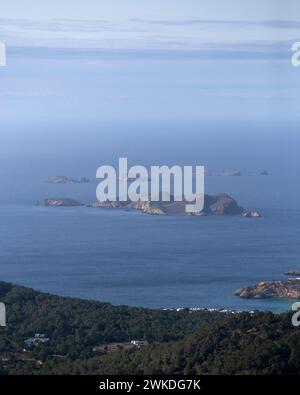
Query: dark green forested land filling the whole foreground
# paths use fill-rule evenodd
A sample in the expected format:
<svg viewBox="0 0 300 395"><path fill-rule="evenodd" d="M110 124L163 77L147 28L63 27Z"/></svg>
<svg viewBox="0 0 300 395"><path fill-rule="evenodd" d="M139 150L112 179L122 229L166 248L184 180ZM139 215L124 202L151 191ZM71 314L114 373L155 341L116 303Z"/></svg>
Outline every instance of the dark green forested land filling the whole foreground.
<svg viewBox="0 0 300 395"><path fill-rule="evenodd" d="M300 329L290 314L229 315L114 307L0 283L2 374L299 374ZM23 352L24 339L50 341ZM94 346L144 339L140 349ZM32 359L32 360L30 360ZM38 360L42 361L38 363Z"/></svg>

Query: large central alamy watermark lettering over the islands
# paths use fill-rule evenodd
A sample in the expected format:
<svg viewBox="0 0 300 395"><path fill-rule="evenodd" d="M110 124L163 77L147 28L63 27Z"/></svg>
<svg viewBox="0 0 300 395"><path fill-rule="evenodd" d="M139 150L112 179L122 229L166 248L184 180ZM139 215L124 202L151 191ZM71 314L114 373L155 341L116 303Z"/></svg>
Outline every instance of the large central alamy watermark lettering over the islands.
<svg viewBox="0 0 300 395"><path fill-rule="evenodd" d="M204 166L195 170L193 166L151 166L149 176L144 166L128 169L127 158L119 158L118 172L113 166L101 166L96 177L102 180L96 190L99 202L186 202L187 213L199 213L204 207Z"/></svg>

